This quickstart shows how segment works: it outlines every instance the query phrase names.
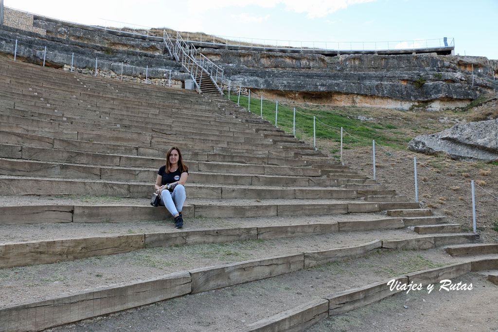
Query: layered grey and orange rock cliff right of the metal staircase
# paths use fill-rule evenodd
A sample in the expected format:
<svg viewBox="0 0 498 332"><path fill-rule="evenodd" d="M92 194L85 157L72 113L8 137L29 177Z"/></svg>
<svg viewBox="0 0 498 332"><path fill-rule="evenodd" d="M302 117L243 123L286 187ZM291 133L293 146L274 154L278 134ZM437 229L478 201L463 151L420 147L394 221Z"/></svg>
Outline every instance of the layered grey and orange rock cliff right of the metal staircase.
<svg viewBox="0 0 498 332"><path fill-rule="evenodd" d="M429 111L467 105L498 90L494 60L485 57L277 53L202 48L239 85L268 97L332 105ZM474 74L474 77L473 77ZM228 84L226 86L228 88Z"/></svg>

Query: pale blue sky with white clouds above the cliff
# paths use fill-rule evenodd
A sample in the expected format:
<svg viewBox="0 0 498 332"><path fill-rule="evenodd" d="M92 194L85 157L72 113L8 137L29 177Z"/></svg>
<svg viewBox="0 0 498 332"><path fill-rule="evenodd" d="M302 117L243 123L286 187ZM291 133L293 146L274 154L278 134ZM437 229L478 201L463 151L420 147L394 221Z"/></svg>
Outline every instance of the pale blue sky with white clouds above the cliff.
<svg viewBox="0 0 498 332"><path fill-rule="evenodd" d="M439 45L455 54L498 59L498 0L4 0L4 5L66 21L168 27L179 31L304 46L353 49ZM84 3L77 6L73 3ZM260 40L259 40L260 39ZM421 41L423 40L423 41ZM403 41L407 41L404 42ZM339 42L339 44L337 44ZM352 42L350 44L350 42ZM298 46L300 43L292 43ZM372 47L369 47L372 46Z"/></svg>

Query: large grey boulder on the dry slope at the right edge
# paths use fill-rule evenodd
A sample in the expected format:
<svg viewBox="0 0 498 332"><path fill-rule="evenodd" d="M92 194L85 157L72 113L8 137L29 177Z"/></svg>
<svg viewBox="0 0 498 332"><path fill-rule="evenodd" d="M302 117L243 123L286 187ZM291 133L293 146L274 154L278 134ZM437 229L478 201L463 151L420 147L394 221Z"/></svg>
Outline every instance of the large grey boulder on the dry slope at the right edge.
<svg viewBox="0 0 498 332"><path fill-rule="evenodd" d="M453 159L498 160L498 120L456 124L436 134L419 135L408 149Z"/></svg>

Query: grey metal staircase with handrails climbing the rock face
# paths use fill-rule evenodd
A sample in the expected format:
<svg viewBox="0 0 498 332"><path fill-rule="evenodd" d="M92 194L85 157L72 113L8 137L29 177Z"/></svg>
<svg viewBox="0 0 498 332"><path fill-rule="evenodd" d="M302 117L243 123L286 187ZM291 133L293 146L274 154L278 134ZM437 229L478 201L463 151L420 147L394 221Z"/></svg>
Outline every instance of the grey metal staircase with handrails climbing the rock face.
<svg viewBox="0 0 498 332"><path fill-rule="evenodd" d="M163 30L163 40L168 52L190 74L197 92L223 96L221 67L201 54L194 45L187 44L178 32L176 39L171 39L166 30Z"/></svg>

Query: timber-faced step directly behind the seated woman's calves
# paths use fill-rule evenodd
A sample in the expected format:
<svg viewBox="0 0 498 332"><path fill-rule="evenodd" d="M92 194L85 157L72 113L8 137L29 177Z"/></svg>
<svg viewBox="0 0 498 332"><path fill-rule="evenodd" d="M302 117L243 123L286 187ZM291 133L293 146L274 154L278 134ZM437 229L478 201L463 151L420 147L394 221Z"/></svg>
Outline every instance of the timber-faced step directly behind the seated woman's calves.
<svg viewBox="0 0 498 332"><path fill-rule="evenodd" d="M183 207L188 218L256 218L275 216L321 216L330 214L379 212L394 208L399 203L326 203L325 200L284 203L262 200L260 203L198 204L192 200ZM289 202L288 200L286 202ZM35 219L32 216L36 216ZM27 205L1 206L0 224L38 222L138 222L170 219L164 209L136 205Z"/></svg>

